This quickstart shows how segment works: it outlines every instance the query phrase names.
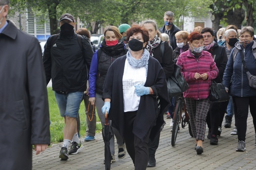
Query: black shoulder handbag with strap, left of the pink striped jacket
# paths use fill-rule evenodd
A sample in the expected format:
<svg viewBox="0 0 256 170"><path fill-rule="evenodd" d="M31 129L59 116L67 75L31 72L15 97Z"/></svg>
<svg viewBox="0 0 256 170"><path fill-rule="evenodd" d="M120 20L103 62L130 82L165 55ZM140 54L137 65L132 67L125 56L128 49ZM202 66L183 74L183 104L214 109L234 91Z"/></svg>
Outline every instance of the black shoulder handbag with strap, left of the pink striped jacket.
<svg viewBox="0 0 256 170"><path fill-rule="evenodd" d="M161 43L160 46L161 57L163 62L163 54L164 54L164 42ZM181 67L177 64L174 65L174 70L172 75L166 79L167 89L169 97L175 97L189 88L188 83L184 79L181 74Z"/></svg>

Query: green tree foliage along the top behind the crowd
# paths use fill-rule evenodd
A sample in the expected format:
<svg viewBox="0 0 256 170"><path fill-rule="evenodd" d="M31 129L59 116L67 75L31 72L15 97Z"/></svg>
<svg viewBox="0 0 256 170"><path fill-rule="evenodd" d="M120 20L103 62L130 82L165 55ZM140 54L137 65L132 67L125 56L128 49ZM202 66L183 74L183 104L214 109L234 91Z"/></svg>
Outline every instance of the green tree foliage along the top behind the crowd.
<svg viewBox="0 0 256 170"><path fill-rule="evenodd" d="M48 13L51 34L58 31L58 19L63 13L79 17L96 33L100 26L139 24L146 19L156 20L161 27L163 14L168 10L174 12L175 24L181 26L181 17L206 16L211 3L212 0L11 0L11 5L19 6L19 10L30 7L34 12Z"/></svg>

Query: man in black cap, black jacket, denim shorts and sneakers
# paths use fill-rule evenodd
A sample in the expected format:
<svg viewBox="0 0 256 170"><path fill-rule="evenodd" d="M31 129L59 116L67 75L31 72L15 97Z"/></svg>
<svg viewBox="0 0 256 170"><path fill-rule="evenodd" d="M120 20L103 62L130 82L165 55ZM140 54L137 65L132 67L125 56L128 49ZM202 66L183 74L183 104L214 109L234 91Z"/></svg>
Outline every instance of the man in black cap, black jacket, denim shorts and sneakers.
<svg viewBox="0 0 256 170"><path fill-rule="evenodd" d="M87 68L90 70L94 54L89 39L77 35L74 26L71 14L62 15L60 34L48 38L43 55L46 81L48 84L52 79L55 98L65 122L61 160L67 160L68 155L77 154L84 147L78 138L76 118L87 88Z"/></svg>

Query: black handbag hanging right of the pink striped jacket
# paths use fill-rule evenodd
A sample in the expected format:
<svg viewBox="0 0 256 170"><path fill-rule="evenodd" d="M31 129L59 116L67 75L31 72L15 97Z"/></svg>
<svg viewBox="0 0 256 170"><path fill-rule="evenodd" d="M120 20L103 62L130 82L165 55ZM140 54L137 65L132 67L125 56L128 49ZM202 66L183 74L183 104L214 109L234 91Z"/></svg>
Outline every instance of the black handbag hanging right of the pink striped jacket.
<svg viewBox="0 0 256 170"><path fill-rule="evenodd" d="M212 81L209 100L211 102L225 102L229 100L229 94L226 92L222 83L216 83L215 81Z"/></svg>

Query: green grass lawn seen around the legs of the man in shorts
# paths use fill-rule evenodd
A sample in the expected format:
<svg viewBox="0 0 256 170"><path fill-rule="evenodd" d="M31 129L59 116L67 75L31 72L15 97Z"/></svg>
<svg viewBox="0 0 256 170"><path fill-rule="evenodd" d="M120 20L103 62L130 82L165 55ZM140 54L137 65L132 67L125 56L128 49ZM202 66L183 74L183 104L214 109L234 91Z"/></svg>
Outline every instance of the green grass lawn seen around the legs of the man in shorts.
<svg viewBox="0 0 256 170"><path fill-rule="evenodd" d="M50 132L51 132L51 143L63 142L63 129L64 129L64 118L61 117L58 105L56 103L54 91L52 87L47 88L48 100L49 100L49 110L50 110ZM97 111L96 111L97 112ZM79 109L80 116L80 138L85 138L86 135L86 115L85 115L85 105L84 102L81 103ZM96 133L99 133L102 129L101 123L99 121L98 115L96 113L97 123Z"/></svg>

